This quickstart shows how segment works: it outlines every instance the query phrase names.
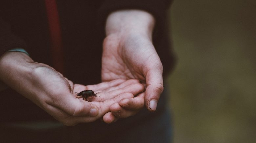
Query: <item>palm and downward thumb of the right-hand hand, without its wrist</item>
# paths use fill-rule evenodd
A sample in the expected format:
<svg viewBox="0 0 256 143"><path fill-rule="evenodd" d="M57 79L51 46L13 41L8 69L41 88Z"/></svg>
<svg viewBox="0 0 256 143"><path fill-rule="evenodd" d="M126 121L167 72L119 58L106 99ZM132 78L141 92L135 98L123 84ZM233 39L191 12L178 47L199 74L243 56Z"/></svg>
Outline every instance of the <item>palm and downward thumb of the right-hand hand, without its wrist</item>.
<svg viewBox="0 0 256 143"><path fill-rule="evenodd" d="M143 35L121 39L109 35L103 44L102 81L138 79L145 83L145 102L150 111L151 100L158 101L163 91L162 64L152 42ZM142 103L142 100L139 100ZM156 105L156 103L154 103Z"/></svg>

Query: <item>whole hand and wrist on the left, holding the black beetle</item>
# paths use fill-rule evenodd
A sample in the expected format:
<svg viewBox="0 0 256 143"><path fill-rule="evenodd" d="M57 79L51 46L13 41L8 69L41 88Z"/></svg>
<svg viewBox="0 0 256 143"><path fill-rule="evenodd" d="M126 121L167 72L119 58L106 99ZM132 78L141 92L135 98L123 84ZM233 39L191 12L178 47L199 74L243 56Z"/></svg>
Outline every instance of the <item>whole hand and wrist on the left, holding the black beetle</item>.
<svg viewBox="0 0 256 143"><path fill-rule="evenodd" d="M21 52L7 52L0 58L0 80L65 125L95 121L109 112L112 104L144 91L137 80L73 84L52 67ZM88 102L75 95L87 89L99 92L100 97L91 97Z"/></svg>

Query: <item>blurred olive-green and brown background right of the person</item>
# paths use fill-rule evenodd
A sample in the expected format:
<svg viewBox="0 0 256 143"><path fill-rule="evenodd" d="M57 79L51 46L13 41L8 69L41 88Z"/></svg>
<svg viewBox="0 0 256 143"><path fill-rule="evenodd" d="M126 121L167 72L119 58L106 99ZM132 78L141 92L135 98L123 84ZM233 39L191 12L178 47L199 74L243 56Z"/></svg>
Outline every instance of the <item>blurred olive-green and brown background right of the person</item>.
<svg viewBox="0 0 256 143"><path fill-rule="evenodd" d="M256 142L256 0L174 0L174 143Z"/></svg>

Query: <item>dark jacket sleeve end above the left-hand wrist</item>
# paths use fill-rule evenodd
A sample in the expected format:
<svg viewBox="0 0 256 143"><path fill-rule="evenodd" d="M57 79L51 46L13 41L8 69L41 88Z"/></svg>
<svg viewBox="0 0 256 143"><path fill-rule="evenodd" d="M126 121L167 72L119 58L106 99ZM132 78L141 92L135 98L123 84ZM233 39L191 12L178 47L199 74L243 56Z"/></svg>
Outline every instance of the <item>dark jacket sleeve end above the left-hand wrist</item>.
<svg viewBox="0 0 256 143"><path fill-rule="evenodd" d="M26 47L24 40L13 34L10 25L0 18L0 56L8 50Z"/></svg>

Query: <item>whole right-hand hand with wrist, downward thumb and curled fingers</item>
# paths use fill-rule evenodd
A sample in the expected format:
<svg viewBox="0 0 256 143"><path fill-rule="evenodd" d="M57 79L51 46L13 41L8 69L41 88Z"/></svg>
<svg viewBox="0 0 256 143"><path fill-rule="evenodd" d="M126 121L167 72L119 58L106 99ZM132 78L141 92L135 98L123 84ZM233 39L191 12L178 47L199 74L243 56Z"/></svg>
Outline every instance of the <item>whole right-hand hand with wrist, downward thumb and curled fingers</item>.
<svg viewBox="0 0 256 143"><path fill-rule="evenodd" d="M135 98L111 105L105 120L113 122L136 114L146 105L155 111L163 92L163 66L152 44L154 17L141 10L120 10L106 21L103 43L102 81L138 79L146 90Z"/></svg>

